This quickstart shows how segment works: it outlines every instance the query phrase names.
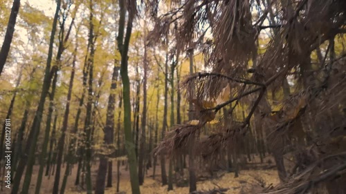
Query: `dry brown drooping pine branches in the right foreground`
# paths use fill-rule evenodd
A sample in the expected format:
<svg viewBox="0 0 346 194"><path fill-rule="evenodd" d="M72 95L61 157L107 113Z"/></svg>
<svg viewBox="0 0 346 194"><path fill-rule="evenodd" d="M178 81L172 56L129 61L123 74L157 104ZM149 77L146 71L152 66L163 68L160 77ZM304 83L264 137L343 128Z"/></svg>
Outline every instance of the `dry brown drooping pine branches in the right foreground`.
<svg viewBox="0 0 346 194"><path fill-rule="evenodd" d="M206 66L212 68L212 72L191 75L181 84L183 95L197 106L194 111L199 119L199 125L177 126L160 146L166 153L179 151L181 147L188 145L192 134L199 132L208 121L206 116L209 113L217 113L221 108L235 101L237 103L231 111L238 106L238 101L240 103L246 101L246 104L251 102L249 113L244 115L242 123L233 123L232 121L238 119L235 119L236 114L231 115L230 124L220 126L217 133L198 142L199 153L202 157L211 159L215 154L223 151L227 145L232 144L235 147L239 142L246 141L244 135L257 109L260 109L259 114L263 113L262 115L265 116L263 122L271 119L271 123L264 126L266 135L271 138L269 142L281 141L284 138L291 141L293 138L289 137L289 132L293 132L297 124L308 123L307 126L301 128L309 130L312 140L308 141L308 136L303 135L302 139L306 139L303 140L304 145L300 148L292 146L290 150L295 155L299 155L307 164L297 166L298 170L286 184L280 184L268 192L262 192L305 193L312 186L331 180L336 175L345 176L345 159L334 158L335 161L322 159L323 165L319 161L326 155L337 155L342 152L340 144L344 143L346 69L343 52L345 50L335 53L336 49L331 42L338 39L336 35L345 32L346 1L298 0L286 1L286 5L283 5L281 1L280 3L274 0L262 1L263 4L259 3L257 6L264 5L265 8L263 10L260 8L258 19L253 21L251 8L258 2L260 1L189 0L185 1L179 10L161 17L161 23L156 26L156 29L163 30L162 32L167 30L165 22L181 21L177 22L179 31L177 39L180 37L180 47L184 47L181 50L193 46L196 39L203 42L205 37L198 36L201 26L203 29L210 26L212 41L209 41L202 49ZM275 8L272 9L270 6L274 3ZM271 12L274 19L278 21L263 26L268 12ZM179 15L179 17L170 18L172 15ZM258 33L268 28L275 28L275 33L267 37L270 39L269 43L257 55ZM158 31L155 36L160 36ZM325 42L327 41L329 46L326 50L327 43ZM319 63L316 63L311 53L316 48L322 50L325 55L320 55ZM250 60L253 62L252 67ZM250 78L246 71L248 68L251 68L249 72L253 73ZM305 83L305 79L310 78L312 81ZM268 108L262 108L260 101L264 99L267 91L280 90L284 79L292 81L297 86L294 88L295 91L302 92L294 93L286 98L280 104L280 110L270 115L272 107L268 105ZM296 82L298 84L295 84ZM303 83L302 86L298 86L300 83ZM230 88L227 101L213 105L214 107L203 106L204 101L215 100L226 87ZM215 117L215 114L213 116ZM335 146L334 140L337 140ZM316 142L325 145L319 146ZM333 146L336 147L333 149L335 153L331 151ZM295 159L296 162L299 161L298 157ZM325 164L328 165L325 166Z"/></svg>

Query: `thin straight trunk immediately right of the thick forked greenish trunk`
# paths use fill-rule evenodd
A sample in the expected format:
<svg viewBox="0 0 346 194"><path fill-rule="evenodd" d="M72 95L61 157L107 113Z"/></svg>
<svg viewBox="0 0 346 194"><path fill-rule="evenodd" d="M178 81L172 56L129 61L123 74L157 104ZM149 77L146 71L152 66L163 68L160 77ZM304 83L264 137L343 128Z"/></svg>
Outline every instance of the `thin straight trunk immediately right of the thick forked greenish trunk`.
<svg viewBox="0 0 346 194"><path fill-rule="evenodd" d="M146 41L146 32L145 32L145 43ZM145 157L145 128L147 127L147 46L144 45L144 78L143 78L143 112L142 112L142 132L140 135L140 152L138 158L138 180L139 184L142 185L144 182L144 157Z"/></svg>

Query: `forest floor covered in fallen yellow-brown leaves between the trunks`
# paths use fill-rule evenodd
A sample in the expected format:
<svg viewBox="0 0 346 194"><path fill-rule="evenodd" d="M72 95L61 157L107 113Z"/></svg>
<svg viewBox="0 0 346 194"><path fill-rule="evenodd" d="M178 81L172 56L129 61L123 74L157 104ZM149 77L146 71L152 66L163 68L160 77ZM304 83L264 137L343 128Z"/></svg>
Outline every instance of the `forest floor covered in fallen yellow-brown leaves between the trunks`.
<svg viewBox="0 0 346 194"><path fill-rule="evenodd" d="M168 165L167 165L168 166ZM166 166L166 167L167 167ZM162 186L161 185L161 170L160 166L156 166L156 177L155 180L152 178L152 168L147 171L145 175L145 182L143 186L140 186L140 191L142 194L161 194L161 193L168 193L168 194L185 194L189 193L188 186L185 187L177 187L174 184L174 190L173 191L167 191L167 185ZM37 180L37 172L39 170L39 166L34 166L34 173L30 185L30 192L34 193L35 191L35 185ZM75 186L75 175L77 171L77 166L75 165L72 169L71 175L69 176L69 180L66 185L66 194L80 194L80 193L86 193L84 188L86 186ZM93 164L92 171L92 178L93 178L93 184L95 184L95 178L97 176L98 172L98 164ZM64 173L64 166L62 168L62 174ZM279 180L277 177L277 171L275 168L271 169L257 169L257 170L242 170L239 172L239 177L235 178L235 173L228 173L226 171L219 171L217 173L216 178L207 178L200 180L197 182L197 190L198 191L208 191L214 188L228 188L228 191L226 193L239 193L240 191L244 190L244 188L252 185L259 185L259 184L265 184L265 186L269 186L270 184L278 184ZM62 178L62 175L61 175ZM61 185L62 179L60 180ZM105 193L107 194L114 194L116 193L116 162L113 162L113 185L111 188L106 188ZM50 175L49 177L44 176L42 180L42 188L41 192L42 194L48 194L52 193L52 188L54 184L54 175ZM95 185L93 185L95 186ZM0 193L10 193L10 189L8 188L2 188L0 190ZM127 167L120 166L120 193L121 194L130 194L131 193L131 184L129 179L129 171L127 171Z"/></svg>

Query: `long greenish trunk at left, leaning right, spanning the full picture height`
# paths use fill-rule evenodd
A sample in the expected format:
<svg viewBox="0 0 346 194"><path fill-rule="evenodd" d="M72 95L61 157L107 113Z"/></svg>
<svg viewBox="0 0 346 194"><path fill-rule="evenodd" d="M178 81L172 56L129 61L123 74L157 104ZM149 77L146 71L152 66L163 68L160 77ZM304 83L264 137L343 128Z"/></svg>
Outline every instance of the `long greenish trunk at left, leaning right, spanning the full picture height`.
<svg viewBox="0 0 346 194"><path fill-rule="evenodd" d="M21 182L21 175L24 173L24 168L26 164L26 176L23 184L22 193L28 193L30 181L31 181L31 175L33 174L33 164L35 162L35 148L37 144L37 139L39 136L39 128L42 120L42 114L44 111L44 102L46 101L46 96L48 95L48 90L51 86L51 61L53 57L53 43L54 43L54 37L55 37L55 31L57 27L57 18L59 16L60 11L60 4L61 0L57 0L57 8L55 10L55 16L53 19L53 28L51 32L51 39L49 42L49 49L48 49L48 59L46 64L46 70L44 72L44 83L42 86L42 93L41 97L39 99L39 106L37 106L37 110L35 113L33 126L30 130L29 139L30 141L27 141L26 143L26 151L24 155L22 155L18 168L17 173L14 178L14 184L12 188L12 194L17 194L19 190L19 185ZM54 67L53 67L54 68ZM54 70L52 70L54 72Z"/></svg>

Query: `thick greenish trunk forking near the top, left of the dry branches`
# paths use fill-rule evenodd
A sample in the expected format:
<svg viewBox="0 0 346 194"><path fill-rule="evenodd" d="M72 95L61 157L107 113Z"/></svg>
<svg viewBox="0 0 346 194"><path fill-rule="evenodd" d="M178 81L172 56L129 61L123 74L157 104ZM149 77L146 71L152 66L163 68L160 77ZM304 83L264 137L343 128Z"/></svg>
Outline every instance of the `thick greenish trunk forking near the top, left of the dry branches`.
<svg viewBox="0 0 346 194"><path fill-rule="evenodd" d="M137 159L135 153L134 139L131 134L131 101L130 101L130 86L129 86L129 75L127 70L127 52L129 50L129 40L132 31L132 21L134 16L130 13L127 19L127 29L125 39L125 17L126 17L126 1L119 1L120 7L120 20L119 20L119 32L118 32L118 49L121 54L121 67L120 75L122 79L122 98L124 100L124 130L125 130L125 148L127 151L127 157L129 159L129 173L131 180L131 190L133 194L139 194L139 183L137 173Z"/></svg>

